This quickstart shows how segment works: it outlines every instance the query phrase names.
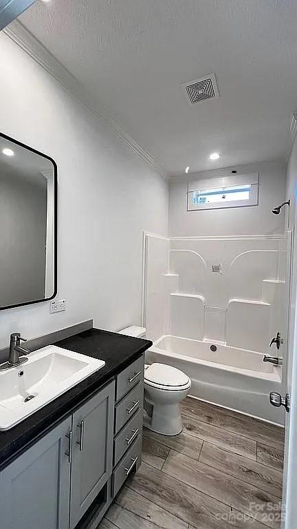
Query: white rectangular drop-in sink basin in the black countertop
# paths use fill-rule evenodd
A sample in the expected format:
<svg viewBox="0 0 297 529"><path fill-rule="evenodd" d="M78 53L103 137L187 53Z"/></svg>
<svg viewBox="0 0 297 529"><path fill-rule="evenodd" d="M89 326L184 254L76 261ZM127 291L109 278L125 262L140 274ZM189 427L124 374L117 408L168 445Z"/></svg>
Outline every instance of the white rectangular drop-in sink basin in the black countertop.
<svg viewBox="0 0 297 529"><path fill-rule="evenodd" d="M49 345L31 353L25 364L0 372L0 430L12 428L104 365Z"/></svg>

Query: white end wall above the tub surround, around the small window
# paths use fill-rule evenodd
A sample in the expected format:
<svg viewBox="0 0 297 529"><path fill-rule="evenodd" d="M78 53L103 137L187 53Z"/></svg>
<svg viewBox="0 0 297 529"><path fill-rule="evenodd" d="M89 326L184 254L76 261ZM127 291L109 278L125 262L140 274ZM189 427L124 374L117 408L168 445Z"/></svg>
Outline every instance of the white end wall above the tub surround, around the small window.
<svg viewBox="0 0 297 529"><path fill-rule="evenodd" d="M259 205L212 211L187 211L188 181L225 176L235 169L238 174L259 172ZM170 237L272 235L284 231L285 211L271 210L285 200L285 164L261 162L227 169L184 175L172 180L169 194Z"/></svg>

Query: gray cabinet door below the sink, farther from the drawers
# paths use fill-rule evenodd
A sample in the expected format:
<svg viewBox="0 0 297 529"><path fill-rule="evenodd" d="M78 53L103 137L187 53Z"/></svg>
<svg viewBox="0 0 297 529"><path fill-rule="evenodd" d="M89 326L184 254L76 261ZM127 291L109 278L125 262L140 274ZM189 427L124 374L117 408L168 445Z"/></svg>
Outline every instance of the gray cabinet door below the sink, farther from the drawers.
<svg viewBox="0 0 297 529"><path fill-rule="evenodd" d="M0 527L68 529L71 418L0 472Z"/></svg>

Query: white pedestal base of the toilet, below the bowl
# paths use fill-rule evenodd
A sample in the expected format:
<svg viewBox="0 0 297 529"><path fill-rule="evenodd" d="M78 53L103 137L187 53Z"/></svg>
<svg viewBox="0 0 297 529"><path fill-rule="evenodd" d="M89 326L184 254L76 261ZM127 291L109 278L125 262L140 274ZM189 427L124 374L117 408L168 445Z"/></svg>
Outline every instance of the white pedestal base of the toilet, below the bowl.
<svg viewBox="0 0 297 529"><path fill-rule="evenodd" d="M162 435L178 435L183 431L179 404L155 404L152 416L144 416L144 427Z"/></svg>

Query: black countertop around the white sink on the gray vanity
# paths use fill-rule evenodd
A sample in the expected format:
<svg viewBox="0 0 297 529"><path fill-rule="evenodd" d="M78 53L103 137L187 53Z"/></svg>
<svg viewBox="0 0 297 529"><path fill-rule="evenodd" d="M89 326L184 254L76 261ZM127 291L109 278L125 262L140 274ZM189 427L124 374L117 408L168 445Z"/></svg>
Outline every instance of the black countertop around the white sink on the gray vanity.
<svg viewBox="0 0 297 529"><path fill-rule="evenodd" d="M0 470L67 417L100 386L136 360L148 347L151 347L152 342L100 329L89 329L89 331L83 331L56 342L54 345L104 360L105 365L17 426L1 431Z"/></svg>

